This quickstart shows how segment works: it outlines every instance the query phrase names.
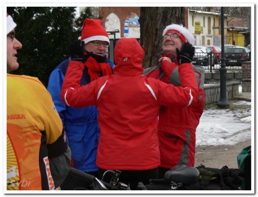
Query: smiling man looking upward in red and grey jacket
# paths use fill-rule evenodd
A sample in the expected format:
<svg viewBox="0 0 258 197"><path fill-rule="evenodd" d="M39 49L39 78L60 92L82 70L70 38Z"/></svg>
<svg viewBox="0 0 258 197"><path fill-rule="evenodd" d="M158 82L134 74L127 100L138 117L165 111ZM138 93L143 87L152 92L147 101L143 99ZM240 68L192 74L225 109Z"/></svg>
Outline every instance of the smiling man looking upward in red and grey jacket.
<svg viewBox="0 0 258 197"><path fill-rule="evenodd" d="M191 63L194 55L194 38L183 25L171 24L163 31L162 58L160 65L147 68L144 75L160 79L165 83L181 86L178 59ZM204 108L204 68L192 65L199 87L197 104L178 108L162 106L159 112L158 136L160 142L160 179L177 164L194 166L195 131Z"/></svg>

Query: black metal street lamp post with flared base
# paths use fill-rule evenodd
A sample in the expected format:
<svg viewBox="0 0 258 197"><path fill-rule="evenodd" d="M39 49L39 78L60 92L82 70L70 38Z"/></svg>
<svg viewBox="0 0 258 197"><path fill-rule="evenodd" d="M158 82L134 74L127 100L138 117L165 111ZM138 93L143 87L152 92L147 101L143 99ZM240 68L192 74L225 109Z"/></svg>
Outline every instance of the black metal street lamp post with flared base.
<svg viewBox="0 0 258 197"><path fill-rule="evenodd" d="M221 64L220 64L220 100L217 103L219 107L229 106L227 100L227 68L224 54L224 7L221 7Z"/></svg>

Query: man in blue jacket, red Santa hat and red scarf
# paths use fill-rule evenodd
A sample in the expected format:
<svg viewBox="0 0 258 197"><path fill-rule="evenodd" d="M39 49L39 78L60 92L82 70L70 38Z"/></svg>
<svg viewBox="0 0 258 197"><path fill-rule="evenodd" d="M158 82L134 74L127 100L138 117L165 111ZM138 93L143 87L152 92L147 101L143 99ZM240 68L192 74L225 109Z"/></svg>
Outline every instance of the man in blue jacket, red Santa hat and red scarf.
<svg viewBox="0 0 258 197"><path fill-rule="evenodd" d="M84 41L84 72L81 85L86 85L101 76L112 75L114 64L106 58L109 38L100 19L86 18L83 22L80 44ZM75 44L76 45L76 44ZM76 54L76 48L71 49ZM76 58L76 57L75 57ZM81 57L78 57L81 58ZM67 134L68 145L72 152L72 167L98 177L96 155L99 140L98 110L95 105L74 108L65 106L61 101L60 92L68 68L70 58L58 65L51 73L48 82L48 91L52 95L56 109L62 119ZM76 187L85 187L84 182L67 177L61 189L68 190Z"/></svg>

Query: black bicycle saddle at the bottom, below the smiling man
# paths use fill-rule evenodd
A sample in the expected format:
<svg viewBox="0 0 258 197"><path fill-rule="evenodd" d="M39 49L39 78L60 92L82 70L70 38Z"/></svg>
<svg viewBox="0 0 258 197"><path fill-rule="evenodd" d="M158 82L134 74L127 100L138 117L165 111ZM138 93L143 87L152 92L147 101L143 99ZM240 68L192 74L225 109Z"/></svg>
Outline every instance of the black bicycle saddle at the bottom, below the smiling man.
<svg viewBox="0 0 258 197"><path fill-rule="evenodd" d="M199 180L199 176L200 172L197 168L180 164L167 171L164 175L164 180L192 185Z"/></svg>

